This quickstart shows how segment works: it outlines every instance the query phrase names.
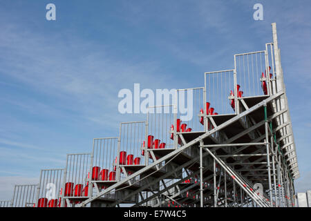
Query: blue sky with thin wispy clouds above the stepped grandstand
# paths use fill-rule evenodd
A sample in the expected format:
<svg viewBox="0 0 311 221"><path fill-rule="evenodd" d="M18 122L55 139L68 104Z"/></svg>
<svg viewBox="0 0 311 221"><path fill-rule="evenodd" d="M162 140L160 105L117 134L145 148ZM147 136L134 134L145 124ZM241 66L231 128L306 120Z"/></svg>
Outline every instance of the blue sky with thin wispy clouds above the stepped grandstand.
<svg viewBox="0 0 311 221"><path fill-rule="evenodd" d="M55 3L57 20L46 20ZM263 21L253 6L263 4ZM310 1L0 0L0 197L117 136L122 88L204 86L233 55L264 50L276 22L301 177L311 189Z"/></svg>

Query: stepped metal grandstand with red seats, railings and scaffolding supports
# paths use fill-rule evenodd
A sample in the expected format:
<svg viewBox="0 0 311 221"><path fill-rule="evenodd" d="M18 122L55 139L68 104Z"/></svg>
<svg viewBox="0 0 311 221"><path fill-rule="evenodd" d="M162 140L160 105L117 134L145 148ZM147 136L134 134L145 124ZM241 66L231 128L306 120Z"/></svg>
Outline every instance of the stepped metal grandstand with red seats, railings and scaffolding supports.
<svg viewBox="0 0 311 221"><path fill-rule="evenodd" d="M122 122L119 137L68 154L65 169L42 170L37 195L23 198L16 186L0 206L296 206L299 170L275 23L272 37L264 50L234 55L232 69L205 73L204 87L149 107L146 121ZM194 117L182 121L176 109L185 93Z"/></svg>

